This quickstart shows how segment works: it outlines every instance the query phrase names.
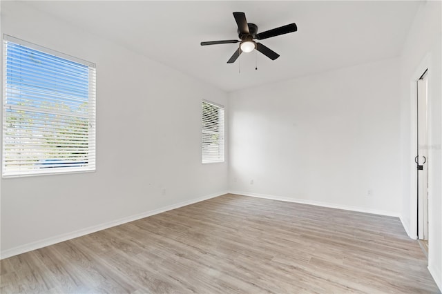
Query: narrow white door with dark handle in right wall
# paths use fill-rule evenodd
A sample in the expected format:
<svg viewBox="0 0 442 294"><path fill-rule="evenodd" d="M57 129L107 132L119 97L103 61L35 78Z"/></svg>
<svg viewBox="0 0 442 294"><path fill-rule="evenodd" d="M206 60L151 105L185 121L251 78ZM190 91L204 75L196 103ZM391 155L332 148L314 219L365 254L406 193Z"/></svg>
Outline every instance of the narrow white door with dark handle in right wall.
<svg viewBox="0 0 442 294"><path fill-rule="evenodd" d="M418 238L428 239L428 123L427 75L417 81L417 198Z"/></svg>

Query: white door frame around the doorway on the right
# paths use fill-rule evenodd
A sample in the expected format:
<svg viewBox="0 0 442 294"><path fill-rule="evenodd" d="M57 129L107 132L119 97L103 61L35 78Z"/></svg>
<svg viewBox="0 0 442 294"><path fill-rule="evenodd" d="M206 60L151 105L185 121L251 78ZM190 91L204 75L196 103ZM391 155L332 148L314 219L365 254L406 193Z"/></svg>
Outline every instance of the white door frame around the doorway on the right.
<svg viewBox="0 0 442 294"><path fill-rule="evenodd" d="M412 239L418 239L417 236L417 170L416 170L416 163L414 162L414 157L416 156L416 146L417 146L417 81L422 77L423 73L427 70L427 82L430 84L432 75L431 75L431 66L430 66L430 55L427 54L421 63L419 63L419 66L417 66L416 70L414 71L414 74L411 77L410 80L410 165L409 165L409 171L410 171L410 231L408 232L408 235ZM430 87L428 87L427 91L427 109L430 109L431 105L431 92ZM428 111L428 145L431 146L431 112ZM429 155L430 157L430 155ZM427 162L427 164L430 164ZM430 167L430 166L429 166ZM428 173L428 199L430 201L431 197L431 183L432 183L432 177L431 173ZM430 213L430 212L429 212ZM430 231L431 224L428 224L428 228Z"/></svg>

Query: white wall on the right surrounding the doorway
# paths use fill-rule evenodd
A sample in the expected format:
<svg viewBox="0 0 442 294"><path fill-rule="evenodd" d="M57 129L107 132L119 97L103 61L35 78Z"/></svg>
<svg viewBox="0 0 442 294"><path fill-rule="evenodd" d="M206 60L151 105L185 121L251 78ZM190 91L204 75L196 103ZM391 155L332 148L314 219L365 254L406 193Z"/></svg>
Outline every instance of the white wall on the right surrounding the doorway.
<svg viewBox="0 0 442 294"><path fill-rule="evenodd" d="M441 1L425 1L416 14L401 57L401 179L403 222L416 238L416 79L428 68L429 256L428 268L442 289L442 88Z"/></svg>

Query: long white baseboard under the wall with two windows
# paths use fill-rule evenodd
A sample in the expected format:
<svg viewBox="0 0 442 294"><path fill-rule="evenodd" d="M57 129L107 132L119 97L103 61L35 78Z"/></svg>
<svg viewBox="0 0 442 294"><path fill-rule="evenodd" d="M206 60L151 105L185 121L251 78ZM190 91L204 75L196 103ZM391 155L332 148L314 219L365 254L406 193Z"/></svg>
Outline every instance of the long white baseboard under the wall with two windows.
<svg viewBox="0 0 442 294"><path fill-rule="evenodd" d="M142 219L144 217L150 217L151 215L157 215L158 213L164 213L164 212L166 212L168 210L173 210L173 209L176 209L176 208L180 208L182 206L186 206L186 205L189 205L189 204L194 204L194 203L197 203L197 202L202 202L204 200L215 198L215 197L227 194L227 193L228 192L226 191L226 192L215 193L215 194L206 195L206 196L202 196L202 197L198 197L198 198L193 198L193 199L186 200L184 202L180 202L180 203L177 203L177 204L172 204L172 205L164 206L164 207L157 208L157 209L154 209L154 210L149 210L149 211L146 211L144 213L138 213L137 215L131 215L129 217L123 217L122 219L116 219L116 220L113 220L111 222L105 222L103 224L98 224L96 226L89 226L88 228L81 228L80 230L73 231L73 232L70 232L70 233L65 233L65 234L54 236L54 237L49 237L47 239L41 239L41 240L36 241L36 242L31 242L31 243L28 243L28 244L17 246L15 248L10 248L8 250L1 251L1 253L0 253L1 258L0 259L8 258L8 257L14 256L14 255L18 255L18 254L21 254L21 253L26 253L28 251L32 251L32 250L35 250L35 249L38 249L38 248L42 248L42 247L50 246L50 245L53 245L53 244L57 244L59 242L64 242L64 241L67 241L69 239L74 239L74 238L77 238L77 237L88 235L90 233L95 233L97 231L102 231L102 230L104 230L106 228L111 228L113 226L118 226L120 224L126 224L127 222L133 222L133 221L135 221L137 219Z"/></svg>

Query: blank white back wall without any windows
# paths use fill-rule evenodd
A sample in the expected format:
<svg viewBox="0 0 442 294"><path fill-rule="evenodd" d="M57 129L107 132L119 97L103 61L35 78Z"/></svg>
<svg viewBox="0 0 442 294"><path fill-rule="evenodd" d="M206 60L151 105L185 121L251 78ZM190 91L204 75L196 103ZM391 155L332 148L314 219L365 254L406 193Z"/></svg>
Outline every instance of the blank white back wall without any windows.
<svg viewBox="0 0 442 294"><path fill-rule="evenodd" d="M231 93L231 190L399 215L398 66L389 59Z"/></svg>

